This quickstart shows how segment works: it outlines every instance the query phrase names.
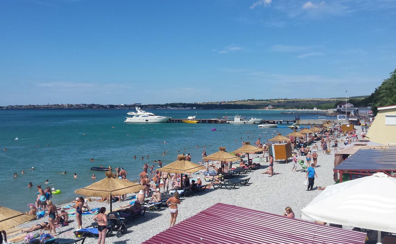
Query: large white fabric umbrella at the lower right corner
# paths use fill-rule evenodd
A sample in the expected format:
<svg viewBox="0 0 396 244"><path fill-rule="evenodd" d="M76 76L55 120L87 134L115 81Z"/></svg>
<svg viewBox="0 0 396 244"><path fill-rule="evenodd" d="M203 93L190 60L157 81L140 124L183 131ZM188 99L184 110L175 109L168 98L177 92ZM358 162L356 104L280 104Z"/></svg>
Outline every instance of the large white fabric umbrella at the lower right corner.
<svg viewBox="0 0 396 244"><path fill-rule="evenodd" d="M327 186L307 207L303 219L376 231L396 232L396 179L385 173ZM379 239L381 233L378 233Z"/></svg>

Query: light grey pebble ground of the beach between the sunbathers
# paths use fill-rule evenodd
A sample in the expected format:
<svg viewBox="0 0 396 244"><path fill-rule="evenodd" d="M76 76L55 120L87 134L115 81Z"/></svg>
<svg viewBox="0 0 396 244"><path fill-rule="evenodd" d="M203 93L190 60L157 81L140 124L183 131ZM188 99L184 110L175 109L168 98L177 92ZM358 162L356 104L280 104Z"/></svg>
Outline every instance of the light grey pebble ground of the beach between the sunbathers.
<svg viewBox="0 0 396 244"><path fill-rule="evenodd" d="M358 127L356 127L358 129ZM339 138L340 140L341 138ZM320 142L317 142L320 149ZM333 143L332 143L333 145ZM343 145L339 143L339 145ZM312 145L313 146L313 145ZM342 146L341 146L342 148ZM316 173L318 178L315 179L315 186L328 186L334 184L333 181L333 165L334 165L334 148L331 148L331 154L322 154L319 151L318 154L318 166ZM261 156L259 154L259 156ZM305 156L300 156L301 159L305 160ZM269 213L280 214L284 212L286 207L291 207L295 213L295 217L301 219L301 209L309 204L314 197L320 194L320 190L306 191L307 186L303 183L305 181L306 173L303 172L292 172L291 163L275 163L274 172L280 173L273 177L261 174L267 170L268 163L264 159L261 159L260 169L252 171L247 175L241 175L239 178L250 177L249 186L243 186L233 190L226 189L209 189L205 190L199 195L186 198L179 205L179 215L177 216L177 223L195 215L196 213L216 204L218 202L236 205L240 207L246 207L251 209L257 209ZM299 166L298 169L301 169ZM205 182L203 182L205 184ZM113 208L119 207L126 203L115 203ZM109 209L109 206L100 202L90 202L89 206L102 207L105 206ZM73 231L77 230L77 222L75 217L70 217L70 220L74 220L67 227L57 228L58 236L60 238L74 238ZM145 216L138 217L135 221L128 224L128 233L122 235L121 238L112 236L106 239L107 243L118 243L118 244L139 244L155 234L168 229L169 227L169 210L165 208L158 212L146 212ZM19 225L18 227L26 228L33 224L42 222L43 219L31 221ZM48 221L48 217L45 217L45 221ZM83 227L90 227L92 216L83 216ZM200 225L202 223L197 223ZM36 231L38 232L38 231ZM34 232L35 233L35 232ZM85 244L97 243L94 238L87 238Z"/></svg>

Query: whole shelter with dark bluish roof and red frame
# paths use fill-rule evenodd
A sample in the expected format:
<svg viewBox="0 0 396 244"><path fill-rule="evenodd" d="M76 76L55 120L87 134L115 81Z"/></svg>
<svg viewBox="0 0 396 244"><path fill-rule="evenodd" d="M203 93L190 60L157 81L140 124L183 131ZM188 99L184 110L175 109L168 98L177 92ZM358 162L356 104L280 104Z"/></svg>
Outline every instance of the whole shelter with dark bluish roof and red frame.
<svg viewBox="0 0 396 244"><path fill-rule="evenodd" d="M383 172L392 176L392 171L396 171L396 146L355 147L358 148L358 151L333 169L335 173L340 174L340 182L342 182L343 174L349 174L352 179L353 175L362 177L373 175L375 172Z"/></svg>

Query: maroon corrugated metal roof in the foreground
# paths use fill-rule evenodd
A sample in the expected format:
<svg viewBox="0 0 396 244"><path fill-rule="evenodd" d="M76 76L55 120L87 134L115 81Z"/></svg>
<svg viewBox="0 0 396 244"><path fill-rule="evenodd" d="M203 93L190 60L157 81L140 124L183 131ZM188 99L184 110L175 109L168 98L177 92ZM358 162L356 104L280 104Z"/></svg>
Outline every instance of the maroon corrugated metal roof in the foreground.
<svg viewBox="0 0 396 244"><path fill-rule="evenodd" d="M217 203L143 244L363 244L366 234Z"/></svg>

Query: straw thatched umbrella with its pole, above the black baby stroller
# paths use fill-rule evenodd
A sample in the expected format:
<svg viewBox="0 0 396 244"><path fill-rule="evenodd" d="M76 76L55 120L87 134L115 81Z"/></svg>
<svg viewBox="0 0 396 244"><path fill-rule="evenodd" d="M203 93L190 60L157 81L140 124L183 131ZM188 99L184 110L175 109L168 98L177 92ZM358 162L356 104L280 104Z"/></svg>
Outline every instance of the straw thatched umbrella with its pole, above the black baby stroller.
<svg viewBox="0 0 396 244"><path fill-rule="evenodd" d="M116 174L111 171L105 173L106 178L98 182L90 184L84 188L75 190L74 193L84 196L96 196L101 198L110 197L110 213L112 211L112 200L111 196L124 195L128 193L139 192L146 187L133 183L131 181L125 181L118 179Z"/></svg>

